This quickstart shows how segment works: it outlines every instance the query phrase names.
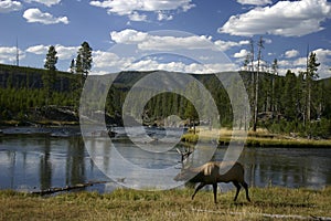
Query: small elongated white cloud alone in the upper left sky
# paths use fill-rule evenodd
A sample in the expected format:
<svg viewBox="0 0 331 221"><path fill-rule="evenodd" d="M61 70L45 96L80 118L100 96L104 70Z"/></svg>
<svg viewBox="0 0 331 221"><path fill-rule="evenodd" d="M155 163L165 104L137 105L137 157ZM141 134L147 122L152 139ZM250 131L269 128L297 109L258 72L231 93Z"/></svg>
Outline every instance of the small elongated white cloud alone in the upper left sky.
<svg viewBox="0 0 331 221"><path fill-rule="evenodd" d="M66 17L54 18L52 14L47 12L42 12L36 8L28 9L23 13L23 18L26 19L28 22L40 22L43 24L55 24L55 23L68 23L68 19Z"/></svg>

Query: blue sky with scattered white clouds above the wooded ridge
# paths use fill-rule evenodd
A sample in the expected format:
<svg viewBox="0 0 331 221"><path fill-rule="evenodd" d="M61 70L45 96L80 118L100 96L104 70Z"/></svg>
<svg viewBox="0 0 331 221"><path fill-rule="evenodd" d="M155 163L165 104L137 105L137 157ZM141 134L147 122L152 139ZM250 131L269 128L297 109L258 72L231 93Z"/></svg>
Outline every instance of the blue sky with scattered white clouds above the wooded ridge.
<svg viewBox="0 0 331 221"><path fill-rule="evenodd" d="M278 73L306 70L307 52L331 77L328 0L0 0L0 63L43 69L50 45L68 71L81 44L93 49L92 74L122 70L238 71L254 42Z"/></svg>

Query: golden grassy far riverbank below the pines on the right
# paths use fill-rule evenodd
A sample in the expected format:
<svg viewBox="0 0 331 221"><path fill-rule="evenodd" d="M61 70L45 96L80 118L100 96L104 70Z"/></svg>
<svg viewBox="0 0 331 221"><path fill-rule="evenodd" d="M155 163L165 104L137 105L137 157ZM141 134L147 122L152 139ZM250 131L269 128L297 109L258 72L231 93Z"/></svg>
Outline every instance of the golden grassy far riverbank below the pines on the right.
<svg viewBox="0 0 331 221"><path fill-rule="evenodd" d="M209 130L204 127L199 127L196 134L188 133L181 138L182 141L196 143L197 139L210 140L211 138L217 138L220 146L226 146L229 144L233 131L222 128L221 130ZM245 135L246 136L246 135ZM236 135L236 140L244 140L245 136ZM280 134L271 134L265 129L258 129L257 131L248 131L245 146L247 147L316 147L316 148L331 148L331 139L308 139L298 136L288 136Z"/></svg>

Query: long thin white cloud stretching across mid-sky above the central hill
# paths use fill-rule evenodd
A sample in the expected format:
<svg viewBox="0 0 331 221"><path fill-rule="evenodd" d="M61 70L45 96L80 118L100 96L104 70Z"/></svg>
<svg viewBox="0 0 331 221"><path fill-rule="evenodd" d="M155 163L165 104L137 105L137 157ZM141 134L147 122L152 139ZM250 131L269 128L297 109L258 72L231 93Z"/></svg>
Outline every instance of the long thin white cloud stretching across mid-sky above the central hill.
<svg viewBox="0 0 331 221"><path fill-rule="evenodd" d="M145 51L172 51L172 50L218 50L226 51L233 46L249 44L249 41L212 41L206 35L172 36L172 35L152 35L132 29L110 32L110 38L116 43L137 44L138 49Z"/></svg>

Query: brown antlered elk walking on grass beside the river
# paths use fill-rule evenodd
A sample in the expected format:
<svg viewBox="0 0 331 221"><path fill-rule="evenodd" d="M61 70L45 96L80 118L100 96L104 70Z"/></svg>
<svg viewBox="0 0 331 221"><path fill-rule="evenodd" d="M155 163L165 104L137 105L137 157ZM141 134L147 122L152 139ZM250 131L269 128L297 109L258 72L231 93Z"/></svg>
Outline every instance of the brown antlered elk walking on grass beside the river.
<svg viewBox="0 0 331 221"><path fill-rule="evenodd" d="M221 175L220 169L232 166L225 173ZM246 191L246 199L250 202L248 196L248 185L244 180L244 167L239 162L221 162L221 161L210 161L197 168L182 169L182 171L174 177L177 181L189 180L190 182L200 185L195 188L192 194L192 200L199 190L201 190L206 185L213 186L214 202L217 203L217 182L232 182L236 187L236 194L234 201L237 200L238 193L242 186ZM194 176L195 175L195 176ZM192 178L191 178L192 177Z"/></svg>

